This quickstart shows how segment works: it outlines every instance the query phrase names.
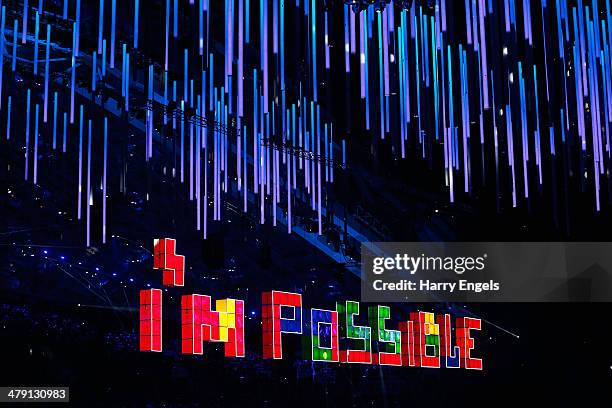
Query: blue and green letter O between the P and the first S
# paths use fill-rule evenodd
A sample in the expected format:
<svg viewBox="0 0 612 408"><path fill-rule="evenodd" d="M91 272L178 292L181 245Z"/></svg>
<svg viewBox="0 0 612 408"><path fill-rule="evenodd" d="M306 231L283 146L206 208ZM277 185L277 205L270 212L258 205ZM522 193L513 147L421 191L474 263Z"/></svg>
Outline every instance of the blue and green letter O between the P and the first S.
<svg viewBox="0 0 612 408"><path fill-rule="evenodd" d="M340 361L338 346L338 312L312 309L310 311L312 334L312 361ZM329 347L321 345L321 337L329 338Z"/></svg>

